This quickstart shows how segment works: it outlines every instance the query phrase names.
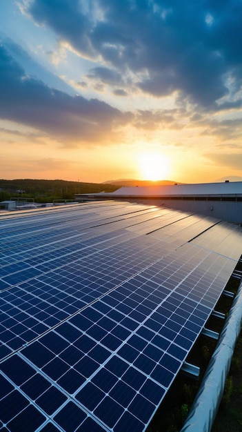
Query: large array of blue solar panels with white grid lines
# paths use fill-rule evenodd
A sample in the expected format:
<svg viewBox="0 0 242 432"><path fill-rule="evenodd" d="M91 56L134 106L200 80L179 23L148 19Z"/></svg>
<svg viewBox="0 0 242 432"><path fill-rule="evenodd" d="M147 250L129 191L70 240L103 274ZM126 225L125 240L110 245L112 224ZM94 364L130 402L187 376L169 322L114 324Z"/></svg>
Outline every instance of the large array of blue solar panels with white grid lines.
<svg viewBox="0 0 242 432"><path fill-rule="evenodd" d="M241 227L128 203L1 214L0 430L144 431Z"/></svg>

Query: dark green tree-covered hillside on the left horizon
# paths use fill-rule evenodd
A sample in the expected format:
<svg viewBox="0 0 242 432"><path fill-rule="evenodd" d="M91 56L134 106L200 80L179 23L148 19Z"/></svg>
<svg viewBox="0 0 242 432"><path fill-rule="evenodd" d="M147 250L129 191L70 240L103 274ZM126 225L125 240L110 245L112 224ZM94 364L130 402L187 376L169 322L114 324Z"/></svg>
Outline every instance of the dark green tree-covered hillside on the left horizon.
<svg viewBox="0 0 242 432"><path fill-rule="evenodd" d="M11 197L32 198L35 202L52 202L54 199L74 199L77 193L113 192L112 184L83 183L65 180L0 179L0 202Z"/></svg>

